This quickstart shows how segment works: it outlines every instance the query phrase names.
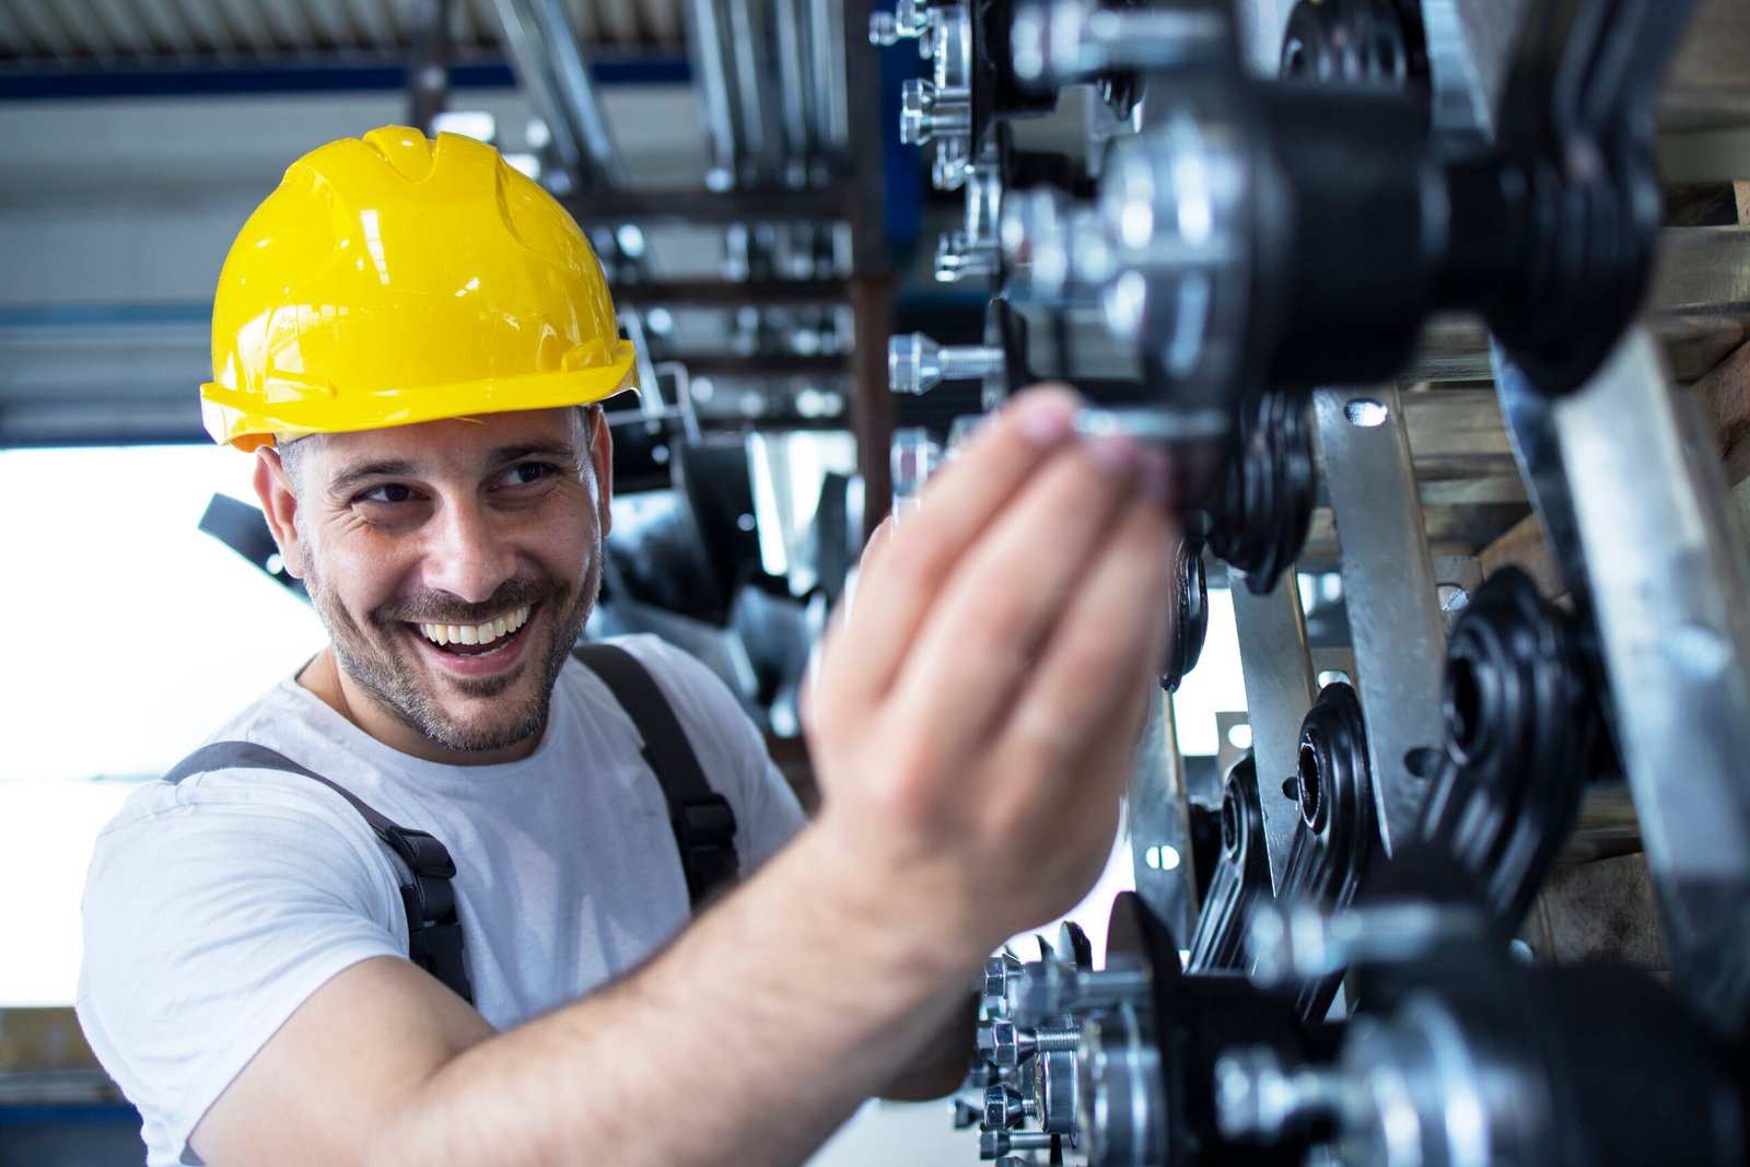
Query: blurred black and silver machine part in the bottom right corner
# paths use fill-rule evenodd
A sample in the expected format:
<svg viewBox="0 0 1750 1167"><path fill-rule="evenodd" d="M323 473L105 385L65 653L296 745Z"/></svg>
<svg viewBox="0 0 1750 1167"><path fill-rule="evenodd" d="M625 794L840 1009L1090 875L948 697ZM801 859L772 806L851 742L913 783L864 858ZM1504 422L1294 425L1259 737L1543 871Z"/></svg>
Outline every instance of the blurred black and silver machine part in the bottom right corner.
<svg viewBox="0 0 1750 1167"><path fill-rule="evenodd" d="M1348 938L1344 961L1377 966L1381 1001L1334 1060L1227 1050L1213 1080L1225 1137L1328 1132L1314 1139L1351 1167L1743 1162L1736 1055L1650 978L1517 964L1461 908L1351 913L1323 931Z"/></svg>

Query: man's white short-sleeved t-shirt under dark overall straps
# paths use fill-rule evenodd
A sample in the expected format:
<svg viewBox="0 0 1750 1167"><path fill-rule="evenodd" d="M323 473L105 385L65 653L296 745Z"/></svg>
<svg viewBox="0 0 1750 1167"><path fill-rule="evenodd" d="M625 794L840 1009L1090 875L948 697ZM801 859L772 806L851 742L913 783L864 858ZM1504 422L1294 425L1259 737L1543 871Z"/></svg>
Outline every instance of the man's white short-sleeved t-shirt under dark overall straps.
<svg viewBox="0 0 1750 1167"><path fill-rule="evenodd" d="M698 661L618 640L735 808L742 871L803 822L758 730ZM212 740L270 745L390 821L430 831L453 880L474 1004L518 1025L625 973L691 915L662 787L606 684L567 661L534 754L444 766L401 754L285 679ZM79 1020L145 1118L147 1164L189 1134L290 1013L341 969L408 954L399 861L340 794L226 770L135 791L98 836Z"/></svg>

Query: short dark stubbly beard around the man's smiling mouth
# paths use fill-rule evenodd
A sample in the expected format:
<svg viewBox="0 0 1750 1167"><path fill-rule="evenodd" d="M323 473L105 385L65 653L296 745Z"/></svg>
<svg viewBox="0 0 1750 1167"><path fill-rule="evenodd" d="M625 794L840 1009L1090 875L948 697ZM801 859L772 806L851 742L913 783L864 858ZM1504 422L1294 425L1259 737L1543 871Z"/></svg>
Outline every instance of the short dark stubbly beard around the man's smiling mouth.
<svg viewBox="0 0 1750 1167"><path fill-rule="evenodd" d="M312 548L310 542L304 542ZM397 595L364 618L364 625L327 588L317 556L304 553L304 590L322 619L334 660L371 700L448 751L490 752L509 749L546 728L553 686L595 607L602 584L602 541L595 539L590 567L578 583L565 584L541 576L514 576L481 604L464 604L444 591ZM436 681L415 658L404 637L410 625L472 625L490 616L541 604L556 612L548 621L546 644L525 646L523 661L494 677L444 677ZM537 635L534 616L523 635ZM525 677L534 670L536 684ZM444 707L436 684L476 707L474 716L457 716ZM525 691L514 693L513 689Z"/></svg>

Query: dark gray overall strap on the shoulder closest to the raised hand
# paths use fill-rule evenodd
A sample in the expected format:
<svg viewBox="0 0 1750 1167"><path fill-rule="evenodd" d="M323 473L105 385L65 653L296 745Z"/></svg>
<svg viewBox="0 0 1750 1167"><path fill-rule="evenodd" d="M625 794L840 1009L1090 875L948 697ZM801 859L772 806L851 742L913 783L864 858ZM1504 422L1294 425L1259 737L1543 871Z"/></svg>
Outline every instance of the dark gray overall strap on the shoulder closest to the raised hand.
<svg viewBox="0 0 1750 1167"><path fill-rule="evenodd" d="M693 912L718 891L735 884L735 812L710 789L681 719L649 670L632 653L612 644L583 644L572 656L612 691L644 738L644 761L668 800L668 824L681 849L681 870Z"/></svg>

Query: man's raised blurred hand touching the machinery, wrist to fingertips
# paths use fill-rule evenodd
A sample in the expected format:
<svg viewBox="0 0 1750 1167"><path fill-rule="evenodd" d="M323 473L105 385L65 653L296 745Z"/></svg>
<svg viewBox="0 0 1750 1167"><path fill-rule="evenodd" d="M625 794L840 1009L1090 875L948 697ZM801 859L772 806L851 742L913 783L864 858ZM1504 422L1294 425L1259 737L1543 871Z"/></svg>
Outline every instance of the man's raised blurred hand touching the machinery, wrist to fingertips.
<svg viewBox="0 0 1750 1167"><path fill-rule="evenodd" d="M1097 878L1166 656L1166 460L1076 404L1024 394L877 532L810 693L819 828L950 961Z"/></svg>

